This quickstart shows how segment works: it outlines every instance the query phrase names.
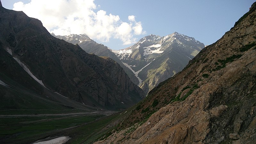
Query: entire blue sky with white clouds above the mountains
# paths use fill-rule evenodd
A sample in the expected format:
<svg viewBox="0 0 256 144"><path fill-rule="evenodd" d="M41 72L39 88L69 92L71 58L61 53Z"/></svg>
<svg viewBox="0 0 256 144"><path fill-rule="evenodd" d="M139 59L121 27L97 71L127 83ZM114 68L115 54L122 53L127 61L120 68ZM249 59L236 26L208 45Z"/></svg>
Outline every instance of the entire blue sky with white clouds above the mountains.
<svg viewBox="0 0 256 144"><path fill-rule="evenodd" d="M42 21L55 35L86 34L111 49L150 34L174 32L212 44L255 0L1 0L3 7Z"/></svg>

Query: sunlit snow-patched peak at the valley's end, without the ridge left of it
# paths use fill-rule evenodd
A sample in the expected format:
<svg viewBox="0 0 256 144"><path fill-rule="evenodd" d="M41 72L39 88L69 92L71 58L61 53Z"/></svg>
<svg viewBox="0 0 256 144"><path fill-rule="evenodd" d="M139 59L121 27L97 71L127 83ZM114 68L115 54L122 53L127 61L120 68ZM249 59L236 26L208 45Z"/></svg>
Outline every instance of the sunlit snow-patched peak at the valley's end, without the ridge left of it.
<svg viewBox="0 0 256 144"><path fill-rule="evenodd" d="M139 85L148 92L181 71L203 48L193 37L174 32L162 37L151 34L124 50L112 51L142 79Z"/></svg>

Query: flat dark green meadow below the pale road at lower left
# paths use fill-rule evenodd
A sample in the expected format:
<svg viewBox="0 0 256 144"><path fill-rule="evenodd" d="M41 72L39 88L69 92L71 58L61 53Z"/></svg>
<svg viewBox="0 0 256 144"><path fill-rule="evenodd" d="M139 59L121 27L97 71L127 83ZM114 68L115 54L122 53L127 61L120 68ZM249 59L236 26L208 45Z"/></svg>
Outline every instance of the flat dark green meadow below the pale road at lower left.
<svg viewBox="0 0 256 144"><path fill-rule="evenodd" d="M58 134L58 131L84 125L100 117L102 115L1 118L0 140L4 140L4 143L31 143L49 134Z"/></svg>

